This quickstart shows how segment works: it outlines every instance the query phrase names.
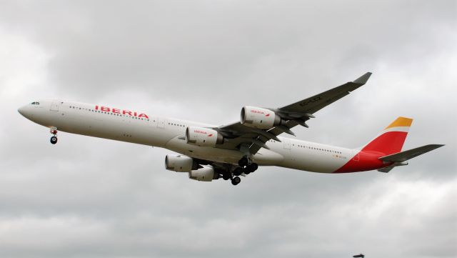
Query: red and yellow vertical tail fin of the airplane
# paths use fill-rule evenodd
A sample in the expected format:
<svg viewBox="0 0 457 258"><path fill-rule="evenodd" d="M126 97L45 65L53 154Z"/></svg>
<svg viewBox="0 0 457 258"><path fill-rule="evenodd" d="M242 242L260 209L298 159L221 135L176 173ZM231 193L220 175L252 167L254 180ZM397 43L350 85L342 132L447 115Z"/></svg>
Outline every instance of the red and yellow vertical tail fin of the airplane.
<svg viewBox="0 0 457 258"><path fill-rule="evenodd" d="M386 155L401 152L412 123L413 119L398 117L381 134L366 144L362 151L382 152Z"/></svg>

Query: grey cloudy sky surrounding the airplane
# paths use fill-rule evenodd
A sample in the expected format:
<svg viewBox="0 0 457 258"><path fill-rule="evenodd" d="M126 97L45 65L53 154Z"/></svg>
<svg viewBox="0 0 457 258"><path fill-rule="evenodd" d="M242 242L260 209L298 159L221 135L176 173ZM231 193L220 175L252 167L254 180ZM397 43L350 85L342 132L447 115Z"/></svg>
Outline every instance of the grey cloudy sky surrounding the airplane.
<svg viewBox="0 0 457 258"><path fill-rule="evenodd" d="M456 1L0 1L0 257L457 257ZM300 139L368 142L414 118L389 174L262 167L237 187L164 149L59 134L61 98L227 124L356 79Z"/></svg>

